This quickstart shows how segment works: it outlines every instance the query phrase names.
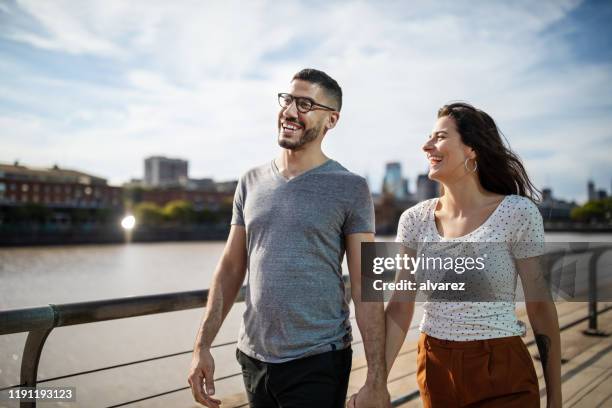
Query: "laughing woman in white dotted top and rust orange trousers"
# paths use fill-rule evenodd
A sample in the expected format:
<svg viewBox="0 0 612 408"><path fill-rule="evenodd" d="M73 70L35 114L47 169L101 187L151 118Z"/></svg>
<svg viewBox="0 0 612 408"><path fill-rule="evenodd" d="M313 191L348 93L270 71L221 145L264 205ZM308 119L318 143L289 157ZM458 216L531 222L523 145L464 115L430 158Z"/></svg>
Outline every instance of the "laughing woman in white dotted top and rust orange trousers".
<svg viewBox="0 0 612 408"><path fill-rule="evenodd" d="M539 407L538 379L520 338L525 328L513 302L518 274L543 364L548 406L560 407L559 324L554 303L541 296L545 282L538 256L544 252L544 231L532 201L537 190L502 142L493 119L466 103L438 111L423 151L429 178L441 184L442 194L402 214L397 241L409 256L427 256L433 244L451 245L440 242L489 245L494 250L482 273L493 295L500 295L493 298L503 300L435 301L430 296L423 304L417 382L424 406ZM416 271L417 281L428 273ZM510 299L503 295L507 293ZM394 293L386 308L388 371L413 312L414 297L406 302Z"/></svg>

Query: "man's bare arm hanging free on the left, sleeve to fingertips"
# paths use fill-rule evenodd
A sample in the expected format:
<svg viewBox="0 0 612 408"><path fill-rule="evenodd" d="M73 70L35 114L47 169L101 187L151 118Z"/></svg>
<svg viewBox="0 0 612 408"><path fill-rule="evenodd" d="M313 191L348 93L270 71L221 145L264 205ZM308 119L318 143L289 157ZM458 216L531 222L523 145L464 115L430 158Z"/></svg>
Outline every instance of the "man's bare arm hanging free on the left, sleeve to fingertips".
<svg viewBox="0 0 612 408"><path fill-rule="evenodd" d="M206 313L196 336L189 370L188 381L193 397L207 407L218 408L221 403L210 397L215 393L215 361L210 347L242 286L246 260L246 230L244 226L232 225L223 255L213 275ZM206 391L203 383L206 384Z"/></svg>

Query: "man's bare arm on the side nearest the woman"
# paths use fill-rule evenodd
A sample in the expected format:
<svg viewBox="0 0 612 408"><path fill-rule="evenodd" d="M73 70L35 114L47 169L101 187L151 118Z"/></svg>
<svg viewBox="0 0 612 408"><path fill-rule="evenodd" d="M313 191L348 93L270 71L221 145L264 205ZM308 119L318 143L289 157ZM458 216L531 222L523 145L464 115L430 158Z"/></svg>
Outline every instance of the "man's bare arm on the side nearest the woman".
<svg viewBox="0 0 612 408"><path fill-rule="evenodd" d="M361 243L373 242L374 234L358 233L346 237L346 256L351 279L355 317L361 332L368 364L365 385L353 396L356 407L389 407L385 365L385 315L383 302L361 301Z"/></svg>

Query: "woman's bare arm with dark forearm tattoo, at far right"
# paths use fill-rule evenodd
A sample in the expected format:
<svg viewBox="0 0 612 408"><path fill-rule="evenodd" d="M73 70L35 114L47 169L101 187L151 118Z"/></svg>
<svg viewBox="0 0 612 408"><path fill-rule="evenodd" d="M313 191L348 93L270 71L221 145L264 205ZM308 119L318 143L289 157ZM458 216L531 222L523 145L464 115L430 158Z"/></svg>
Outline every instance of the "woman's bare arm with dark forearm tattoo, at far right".
<svg viewBox="0 0 612 408"><path fill-rule="evenodd" d="M517 259L527 316L533 328L546 381L547 407L561 406L561 335L557 309L538 257Z"/></svg>

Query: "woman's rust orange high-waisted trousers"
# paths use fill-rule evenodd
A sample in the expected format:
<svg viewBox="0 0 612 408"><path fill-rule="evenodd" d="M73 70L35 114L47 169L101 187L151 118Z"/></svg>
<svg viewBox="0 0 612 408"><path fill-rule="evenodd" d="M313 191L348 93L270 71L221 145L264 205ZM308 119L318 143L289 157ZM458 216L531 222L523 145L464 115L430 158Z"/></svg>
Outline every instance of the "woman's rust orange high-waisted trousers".
<svg viewBox="0 0 612 408"><path fill-rule="evenodd" d="M533 361L518 336L450 341L421 333L417 367L425 408L540 406Z"/></svg>

